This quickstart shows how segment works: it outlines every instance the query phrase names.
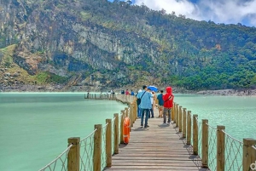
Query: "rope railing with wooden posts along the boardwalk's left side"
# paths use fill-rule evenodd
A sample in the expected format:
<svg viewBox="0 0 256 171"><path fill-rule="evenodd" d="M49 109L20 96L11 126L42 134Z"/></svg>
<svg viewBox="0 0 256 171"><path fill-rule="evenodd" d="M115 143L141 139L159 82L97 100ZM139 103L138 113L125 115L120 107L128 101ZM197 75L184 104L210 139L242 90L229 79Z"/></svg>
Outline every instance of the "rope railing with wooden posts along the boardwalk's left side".
<svg viewBox="0 0 256 171"><path fill-rule="evenodd" d="M111 156L119 153L119 144L123 142L122 121L125 116L129 117L131 122L135 121L136 110L134 110L134 106L137 105L134 96L117 94L116 96L119 98L116 98L111 94L105 95L106 97L103 94L84 94L84 98L107 98L109 100L114 98L129 106L120 113L113 114L112 119L106 119L106 124L103 127L101 124L95 125L94 131L83 140L80 140L79 137L69 138L67 149L39 171L93 171L111 167Z"/></svg>

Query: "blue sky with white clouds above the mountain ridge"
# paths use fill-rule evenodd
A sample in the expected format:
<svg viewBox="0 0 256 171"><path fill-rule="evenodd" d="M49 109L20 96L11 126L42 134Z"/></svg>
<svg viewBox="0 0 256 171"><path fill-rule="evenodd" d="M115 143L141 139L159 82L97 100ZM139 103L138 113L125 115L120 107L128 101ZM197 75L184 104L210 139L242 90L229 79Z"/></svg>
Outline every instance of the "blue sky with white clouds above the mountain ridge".
<svg viewBox="0 0 256 171"><path fill-rule="evenodd" d="M113 2L113 0L108 0ZM165 9L167 14L183 14L194 20L256 26L256 0L131 0L149 9Z"/></svg>

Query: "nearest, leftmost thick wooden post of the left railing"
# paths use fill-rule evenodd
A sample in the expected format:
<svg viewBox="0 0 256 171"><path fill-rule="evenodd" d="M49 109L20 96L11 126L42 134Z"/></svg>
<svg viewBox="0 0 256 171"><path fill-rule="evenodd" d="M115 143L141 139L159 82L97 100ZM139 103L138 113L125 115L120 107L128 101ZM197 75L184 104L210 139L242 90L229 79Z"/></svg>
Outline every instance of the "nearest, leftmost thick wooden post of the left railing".
<svg viewBox="0 0 256 171"><path fill-rule="evenodd" d="M67 153L67 171L79 171L80 168L80 138L67 139L67 146L73 145Z"/></svg>

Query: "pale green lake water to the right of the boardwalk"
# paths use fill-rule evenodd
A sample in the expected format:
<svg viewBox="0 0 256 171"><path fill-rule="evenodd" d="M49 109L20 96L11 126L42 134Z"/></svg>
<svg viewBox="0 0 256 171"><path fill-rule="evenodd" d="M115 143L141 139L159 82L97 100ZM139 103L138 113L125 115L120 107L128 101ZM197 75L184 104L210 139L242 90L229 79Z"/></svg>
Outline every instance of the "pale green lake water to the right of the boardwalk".
<svg viewBox="0 0 256 171"><path fill-rule="evenodd" d="M256 97L177 94L175 102L200 120L208 119L214 128L224 125L225 132L237 140L256 139Z"/></svg>

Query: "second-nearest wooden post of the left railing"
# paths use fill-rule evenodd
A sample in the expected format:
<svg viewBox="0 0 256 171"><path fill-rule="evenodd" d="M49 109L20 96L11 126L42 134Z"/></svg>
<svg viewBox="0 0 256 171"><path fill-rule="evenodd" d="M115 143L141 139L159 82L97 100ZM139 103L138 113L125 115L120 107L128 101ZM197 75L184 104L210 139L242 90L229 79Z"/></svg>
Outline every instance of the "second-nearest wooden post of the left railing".
<svg viewBox="0 0 256 171"><path fill-rule="evenodd" d="M93 171L102 169L102 124L94 125Z"/></svg>

